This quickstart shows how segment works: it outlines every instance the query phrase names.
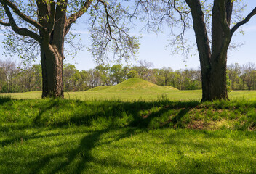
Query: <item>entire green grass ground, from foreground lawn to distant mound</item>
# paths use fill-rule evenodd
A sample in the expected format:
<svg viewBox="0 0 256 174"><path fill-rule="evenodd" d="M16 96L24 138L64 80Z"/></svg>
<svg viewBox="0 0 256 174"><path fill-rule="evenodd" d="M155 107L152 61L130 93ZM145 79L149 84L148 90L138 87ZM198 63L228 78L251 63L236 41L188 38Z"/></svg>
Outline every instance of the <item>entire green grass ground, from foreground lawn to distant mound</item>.
<svg viewBox="0 0 256 174"><path fill-rule="evenodd" d="M256 173L255 94L200 103L201 91L141 80L67 99L1 94L0 173Z"/></svg>

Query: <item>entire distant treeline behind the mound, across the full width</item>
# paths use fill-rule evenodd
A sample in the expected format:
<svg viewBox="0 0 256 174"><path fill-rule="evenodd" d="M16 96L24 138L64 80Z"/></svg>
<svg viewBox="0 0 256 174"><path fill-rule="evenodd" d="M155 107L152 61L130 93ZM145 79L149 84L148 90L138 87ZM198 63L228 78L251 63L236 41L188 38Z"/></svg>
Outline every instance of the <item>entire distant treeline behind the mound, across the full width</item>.
<svg viewBox="0 0 256 174"><path fill-rule="evenodd" d="M227 70L227 85L232 90L255 90L256 67L231 64ZM41 65L22 67L15 62L0 60L0 92L41 91ZM121 65L98 65L90 70L76 70L71 64L63 68L65 91L86 91L96 86L111 86L128 78L142 78L159 86L173 86L180 90L201 89L200 70L173 71L170 67L153 68L151 62L140 61L132 67Z"/></svg>

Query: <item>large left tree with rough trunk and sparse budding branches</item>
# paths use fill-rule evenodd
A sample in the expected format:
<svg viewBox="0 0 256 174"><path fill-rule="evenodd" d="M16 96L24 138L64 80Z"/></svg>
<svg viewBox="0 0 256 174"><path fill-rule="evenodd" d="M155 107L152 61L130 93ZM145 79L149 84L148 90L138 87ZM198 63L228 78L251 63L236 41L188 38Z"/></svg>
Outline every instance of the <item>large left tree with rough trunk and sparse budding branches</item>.
<svg viewBox="0 0 256 174"><path fill-rule="evenodd" d="M119 0L0 0L0 24L14 32L5 43L15 51L29 52L39 46L42 69L42 97L63 97L63 60L65 37L76 20L89 14L92 55L98 59L113 49L119 57L129 58L138 48L122 23L127 9ZM16 46L27 46L16 49Z"/></svg>

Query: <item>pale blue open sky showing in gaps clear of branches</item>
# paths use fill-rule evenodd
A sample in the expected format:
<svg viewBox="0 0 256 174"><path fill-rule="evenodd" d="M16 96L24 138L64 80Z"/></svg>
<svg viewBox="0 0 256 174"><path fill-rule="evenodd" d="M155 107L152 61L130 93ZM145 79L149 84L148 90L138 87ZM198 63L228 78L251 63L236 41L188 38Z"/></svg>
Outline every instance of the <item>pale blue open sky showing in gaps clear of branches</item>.
<svg viewBox="0 0 256 174"><path fill-rule="evenodd" d="M246 0L248 6L244 12L244 17L246 17L253 8L256 7L255 0ZM77 22L79 26L83 25L84 22ZM76 26L75 26L76 28ZM81 41L85 46L89 46L89 34L87 30L79 27L79 33L81 33ZM243 27L245 34L244 36L240 33L236 33L233 36L232 41L244 43L243 46L238 48L236 51L229 51L228 54L228 64L239 63L239 65L245 64L247 62L254 62L256 64L256 16L244 25ZM193 31L191 33L191 39L195 41ZM140 35L140 33L136 33ZM180 55L171 55L169 48L166 49L168 44L168 33L156 35L154 33L142 33L143 38L140 39L140 50L137 55L137 59L146 59L148 62L153 62L154 67L172 67L173 70L185 69L185 68L197 68L199 67L199 57L195 56L189 57L186 61L183 61L183 57ZM0 41L4 36L0 35ZM1 46L1 50L3 50ZM6 59L1 56L1 59ZM18 58L13 58L18 61ZM93 61L91 54L84 49L84 51L79 51L74 59L67 58L65 60L67 63L76 65L78 70L89 70L96 66ZM39 63L39 61L38 61ZM135 61L132 61L132 65L136 65Z"/></svg>

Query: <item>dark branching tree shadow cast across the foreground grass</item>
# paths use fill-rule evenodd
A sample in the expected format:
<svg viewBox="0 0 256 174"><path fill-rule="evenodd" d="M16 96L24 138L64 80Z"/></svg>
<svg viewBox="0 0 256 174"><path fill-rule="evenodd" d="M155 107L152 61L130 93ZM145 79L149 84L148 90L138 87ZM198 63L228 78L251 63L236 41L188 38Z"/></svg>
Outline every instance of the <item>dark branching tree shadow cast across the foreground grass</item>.
<svg viewBox="0 0 256 174"><path fill-rule="evenodd" d="M111 101L101 103L89 103L86 101L78 101L74 105L79 106L79 108L81 108L82 110L76 109L71 115L71 117L68 118L68 120L60 120L57 123L57 126L53 125L54 127L63 128L63 125L69 125L70 123L73 125L90 126L92 125L92 122L97 122L97 120L103 119L103 122L109 120L109 122L107 123L107 128L103 130L95 130L90 133L85 132L87 133L87 135L84 136L84 138L81 138L79 146L77 146L75 149L72 149L69 152L55 152L42 158L39 157L39 160L37 162L33 162L33 164L31 164L31 173L40 173L41 170L45 170L47 165L52 165L52 159L57 158L63 159L60 163L56 165L56 167L49 169L49 173L59 173L60 171L68 169L68 167L73 167L73 164L71 165L71 163L75 163L76 166L74 167L75 169L73 173L81 173L88 167L89 162L95 162L95 158L92 157L91 152L92 149L94 149L97 146L100 146L100 144L111 144L111 142L113 141L118 141L122 138L127 138L131 136L131 134L135 133L136 128L140 128L140 130L143 128L148 128L151 125L151 121L154 118L161 117L161 115L167 115L169 109L177 109L177 113L173 115L174 117L171 117L171 119L170 117L167 117L167 120L164 120L163 124L157 128L167 126L169 122L172 122L173 124L177 125L182 121L183 117L188 113L188 111L191 108L196 107L197 104L199 104L199 102ZM25 134L24 132L24 141L33 140L41 137L52 137L60 135L60 133L49 133L48 135L44 136L40 134L40 131L44 131L44 127L45 125L47 125L47 119L51 118L51 115L46 115L47 117L44 117L44 115L48 111L61 112L62 109L66 109L66 107L68 107L68 109L73 109L73 107L71 107L70 101L64 100L49 100L45 101L45 104L44 102L42 102L38 106L33 107L39 107L40 112L38 115L36 115L36 117L33 117L33 125L31 125L31 127L36 126L35 128L39 128L41 130L36 131L35 133L32 134ZM142 110L151 110L153 107L159 107L160 109L150 113L146 118L143 117L143 115L141 115ZM90 108L94 109L92 109L91 112L88 112ZM108 133L108 131L114 130L114 128L120 128L120 126L117 123L115 123L115 121L118 119L122 119L124 117L123 115L121 115L121 113L127 113L127 117L133 120L131 122L127 122L127 126L129 126L129 128L127 128L127 131L115 137L113 141L103 143L99 142L100 136L103 136L105 133ZM68 134L69 133L65 133L64 135ZM13 141L17 141L18 138L20 138L20 134L17 135L15 138L3 141L1 143L4 144L4 146L7 146L9 144L12 144ZM117 165L122 165L123 167L129 167L128 165L122 164L121 162L118 161L113 161L113 163Z"/></svg>

